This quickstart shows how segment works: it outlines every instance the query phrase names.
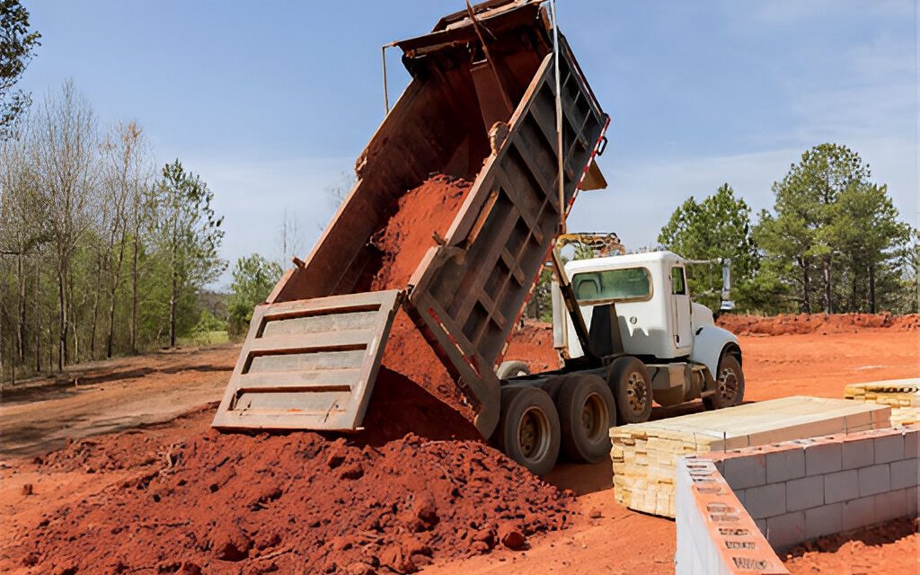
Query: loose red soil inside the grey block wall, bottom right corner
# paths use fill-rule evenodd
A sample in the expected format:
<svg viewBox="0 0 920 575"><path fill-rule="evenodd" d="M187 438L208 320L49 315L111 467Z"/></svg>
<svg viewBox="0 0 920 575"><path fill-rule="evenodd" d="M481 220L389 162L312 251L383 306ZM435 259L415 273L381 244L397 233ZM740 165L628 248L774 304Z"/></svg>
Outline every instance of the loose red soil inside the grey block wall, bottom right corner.
<svg viewBox="0 0 920 575"><path fill-rule="evenodd" d="M847 535L821 537L788 552L784 563L792 575L806 573L920 573L920 527L904 518Z"/></svg>

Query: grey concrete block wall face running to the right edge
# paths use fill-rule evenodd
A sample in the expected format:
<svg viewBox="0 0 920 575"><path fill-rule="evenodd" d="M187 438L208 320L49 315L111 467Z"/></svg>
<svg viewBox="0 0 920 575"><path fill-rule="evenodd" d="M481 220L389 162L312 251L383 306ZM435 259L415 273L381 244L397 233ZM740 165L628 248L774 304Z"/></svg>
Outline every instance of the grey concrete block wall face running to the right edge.
<svg viewBox="0 0 920 575"><path fill-rule="evenodd" d="M917 515L920 427L700 454L776 550Z"/></svg>

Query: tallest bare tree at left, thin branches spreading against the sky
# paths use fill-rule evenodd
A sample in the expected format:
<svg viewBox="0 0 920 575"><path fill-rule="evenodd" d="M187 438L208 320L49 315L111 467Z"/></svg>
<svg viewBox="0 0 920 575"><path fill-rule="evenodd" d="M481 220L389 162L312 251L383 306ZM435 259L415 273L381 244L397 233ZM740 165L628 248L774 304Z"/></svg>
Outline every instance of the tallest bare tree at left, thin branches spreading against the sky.
<svg viewBox="0 0 920 575"><path fill-rule="evenodd" d="M74 84L63 84L57 98L45 98L34 123L32 163L40 201L47 210L49 240L58 286L58 369L70 357L67 328L72 284L71 258L81 237L92 224L98 207L96 118ZM75 349L78 350L75 338Z"/></svg>

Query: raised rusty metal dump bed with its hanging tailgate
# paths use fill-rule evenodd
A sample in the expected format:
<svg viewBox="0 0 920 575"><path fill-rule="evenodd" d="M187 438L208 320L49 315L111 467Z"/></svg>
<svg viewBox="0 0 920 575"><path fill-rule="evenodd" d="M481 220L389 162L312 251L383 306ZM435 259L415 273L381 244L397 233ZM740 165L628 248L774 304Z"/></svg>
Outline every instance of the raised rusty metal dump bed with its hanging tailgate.
<svg viewBox="0 0 920 575"><path fill-rule="evenodd" d="M360 426L399 306L494 430L495 365L608 117L559 36L564 199L558 194L551 28L538 2L489 2L397 42L413 79L359 157L357 182L305 262L253 315L213 425ZM486 44L483 46L482 40ZM431 174L471 180L405 284L373 292L375 235Z"/></svg>

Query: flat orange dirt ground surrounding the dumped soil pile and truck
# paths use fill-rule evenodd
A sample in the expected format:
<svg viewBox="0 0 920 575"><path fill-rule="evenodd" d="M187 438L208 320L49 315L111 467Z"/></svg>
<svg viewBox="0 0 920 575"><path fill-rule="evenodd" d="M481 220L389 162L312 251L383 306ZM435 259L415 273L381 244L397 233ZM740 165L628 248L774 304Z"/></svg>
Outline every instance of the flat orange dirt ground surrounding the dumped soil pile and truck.
<svg viewBox="0 0 920 575"><path fill-rule="evenodd" d="M915 331L854 328L827 335L752 334L742 336L741 343L746 398L751 400L789 395L841 397L848 383L920 375L920 339ZM531 341L527 346L512 346L506 359L530 359L515 356L515 352L533 355L534 349L528 348L533 345L546 353L546 344ZM84 366L67 378L36 380L5 390L0 405L0 530L11 534L6 543L12 546L28 539L43 518L98 498L109 486L137 473L137 469L106 468L105 461L94 458L92 442L105 438L87 443L86 462L81 466L55 467L53 455L39 466L32 456L59 448L67 438L128 430L135 436L130 444L141 463L149 460L150 465L157 465L164 457L168 460L164 446L183 442L210 425L213 406L201 406L219 399L237 354L234 346L155 353ZM653 417L698 408L694 404L656 409ZM572 527L535 538L523 552L496 550L446 564L435 562L424 572L673 572L674 523L615 504L608 463L560 465L546 480L579 494L581 514ZM839 548L850 552L854 546ZM2 555L0 552L0 559ZM810 572L838 572L813 570L817 566L812 565Z"/></svg>

